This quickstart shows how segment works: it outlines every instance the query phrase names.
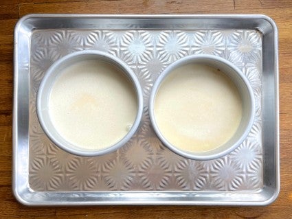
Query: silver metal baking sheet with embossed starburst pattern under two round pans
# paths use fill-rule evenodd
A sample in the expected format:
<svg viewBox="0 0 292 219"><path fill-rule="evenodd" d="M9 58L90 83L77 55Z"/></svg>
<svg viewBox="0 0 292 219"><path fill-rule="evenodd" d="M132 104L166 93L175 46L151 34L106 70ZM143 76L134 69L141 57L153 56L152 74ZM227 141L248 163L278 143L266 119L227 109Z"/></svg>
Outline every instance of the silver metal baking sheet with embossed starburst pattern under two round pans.
<svg viewBox="0 0 292 219"><path fill-rule="evenodd" d="M124 60L144 91L137 134L93 158L54 146L35 108L46 69L82 49ZM155 78L190 54L230 60L254 90L254 126L221 159L179 157L150 127ZM15 27L13 190L25 205L268 205L280 189L278 141L278 32L267 16L32 14Z"/></svg>

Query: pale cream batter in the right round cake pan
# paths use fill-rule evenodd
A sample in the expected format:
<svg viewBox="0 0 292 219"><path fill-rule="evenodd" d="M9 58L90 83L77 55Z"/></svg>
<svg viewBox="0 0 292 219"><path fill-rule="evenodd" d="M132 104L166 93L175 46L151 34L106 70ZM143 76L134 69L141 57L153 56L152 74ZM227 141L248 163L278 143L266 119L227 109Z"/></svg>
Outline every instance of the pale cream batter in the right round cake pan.
<svg viewBox="0 0 292 219"><path fill-rule="evenodd" d="M228 141L243 106L234 83L218 69L189 64L172 71L155 99L157 126L181 150L205 152Z"/></svg>

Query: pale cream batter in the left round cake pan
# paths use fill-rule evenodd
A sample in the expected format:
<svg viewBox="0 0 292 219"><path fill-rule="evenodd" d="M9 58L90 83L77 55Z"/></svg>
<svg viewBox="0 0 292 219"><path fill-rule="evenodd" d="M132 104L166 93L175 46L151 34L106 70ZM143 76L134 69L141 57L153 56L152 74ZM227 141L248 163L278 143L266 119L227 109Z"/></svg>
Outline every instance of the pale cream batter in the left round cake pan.
<svg viewBox="0 0 292 219"><path fill-rule="evenodd" d="M96 60L64 69L49 97L56 130L79 148L100 150L117 143L136 114L133 84L117 67Z"/></svg>

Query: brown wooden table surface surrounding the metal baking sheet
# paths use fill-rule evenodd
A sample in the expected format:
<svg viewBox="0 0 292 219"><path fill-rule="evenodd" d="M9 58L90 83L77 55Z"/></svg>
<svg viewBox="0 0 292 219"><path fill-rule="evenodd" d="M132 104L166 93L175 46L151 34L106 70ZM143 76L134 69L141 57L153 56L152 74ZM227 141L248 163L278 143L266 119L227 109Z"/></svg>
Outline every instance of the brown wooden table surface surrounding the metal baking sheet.
<svg viewBox="0 0 292 219"><path fill-rule="evenodd" d="M25 207L15 200L12 176L13 30L30 13L266 14L279 28L281 192L268 207L106 206ZM292 218L291 0L2 0L0 3L0 218Z"/></svg>

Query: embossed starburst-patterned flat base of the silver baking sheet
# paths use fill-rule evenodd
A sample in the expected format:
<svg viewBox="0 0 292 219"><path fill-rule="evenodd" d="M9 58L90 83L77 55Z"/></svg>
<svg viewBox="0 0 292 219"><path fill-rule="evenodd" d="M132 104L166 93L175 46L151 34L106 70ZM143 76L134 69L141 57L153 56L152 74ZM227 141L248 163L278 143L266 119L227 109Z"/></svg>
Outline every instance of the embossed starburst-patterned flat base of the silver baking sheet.
<svg viewBox="0 0 292 219"><path fill-rule="evenodd" d="M215 200L214 204L220 204L221 199L216 198L218 192L223 192L223 196L226 194L227 199L222 198L226 203L232 200L240 203L243 192L256 194L262 191L265 185L263 34L258 30L225 30L224 27L222 23L218 30L180 30L179 26L175 30L142 30L121 25L120 30L31 31L27 67L28 156L23 162L28 165L27 187L40 194L96 192L97 199L98 192L105 192L100 196L107 198L124 192L142 192L141 203L159 201L159 196L152 202L148 200L147 196L143 196L145 191L159 192L162 196L164 192L177 192L177 197L186 196L188 192L200 192L201 204L208 200L205 200L206 197L211 202ZM136 135L116 152L93 158L77 157L54 146L41 129L35 108L36 92L47 68L58 58L83 49L105 51L124 60L139 78L144 93L144 115ZM155 78L170 63L190 54L214 54L231 61L247 76L254 91L254 126L247 139L221 159L194 161L179 157L161 144L150 127L147 103ZM119 191L123 192L119 194ZM235 198L228 199L232 197L230 192ZM113 198L111 202L118 203L118 200ZM200 204L200 198L193 200ZM189 203L191 201L192 198ZM38 203L42 203L41 198ZM60 200L54 199L48 203L61 204ZM167 202L161 199L161 203ZM71 203L67 200L65 204ZM89 204L98 203L94 203L93 199ZM255 204L256 200L251 203Z"/></svg>

